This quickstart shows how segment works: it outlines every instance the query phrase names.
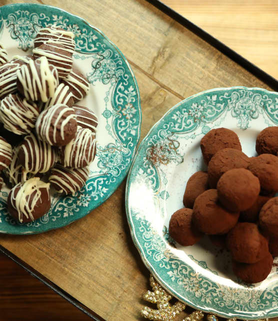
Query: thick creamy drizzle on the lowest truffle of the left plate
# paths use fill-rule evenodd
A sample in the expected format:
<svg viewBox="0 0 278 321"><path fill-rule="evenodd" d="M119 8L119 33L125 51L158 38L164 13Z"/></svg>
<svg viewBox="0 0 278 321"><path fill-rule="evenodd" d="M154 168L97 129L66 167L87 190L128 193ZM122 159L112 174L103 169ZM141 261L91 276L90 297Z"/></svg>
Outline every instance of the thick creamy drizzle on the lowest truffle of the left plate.
<svg viewBox="0 0 278 321"><path fill-rule="evenodd" d="M23 184L15 185L10 193L11 206L18 212L18 221L23 222L23 216L27 219L34 220L33 211L37 203L41 202L40 189L45 188L49 199L49 183L39 180L39 177L28 179Z"/></svg>

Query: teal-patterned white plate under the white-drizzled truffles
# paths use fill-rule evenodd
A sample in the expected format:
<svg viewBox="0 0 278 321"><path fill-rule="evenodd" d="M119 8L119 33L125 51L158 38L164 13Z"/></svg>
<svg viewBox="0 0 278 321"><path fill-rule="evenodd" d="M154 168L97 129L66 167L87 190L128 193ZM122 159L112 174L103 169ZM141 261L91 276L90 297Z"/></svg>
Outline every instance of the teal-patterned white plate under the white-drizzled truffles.
<svg viewBox="0 0 278 321"><path fill-rule="evenodd" d="M40 27L56 24L75 34L73 63L90 83L81 105L97 114L96 157L86 186L74 197L53 195L50 211L28 224L16 224L6 211L8 189L0 192L0 233L34 234L65 226L102 204L130 167L140 135L139 90L120 50L84 19L47 5L18 3L0 7L0 42L13 55L31 53Z"/></svg>

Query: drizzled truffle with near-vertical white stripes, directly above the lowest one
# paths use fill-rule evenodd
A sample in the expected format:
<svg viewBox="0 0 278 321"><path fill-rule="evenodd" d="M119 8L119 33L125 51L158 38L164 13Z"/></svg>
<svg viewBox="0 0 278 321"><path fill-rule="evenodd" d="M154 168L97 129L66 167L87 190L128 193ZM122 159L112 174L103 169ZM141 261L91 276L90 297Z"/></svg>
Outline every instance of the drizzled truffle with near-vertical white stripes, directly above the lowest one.
<svg viewBox="0 0 278 321"><path fill-rule="evenodd" d="M34 134L24 137L18 151L18 162L30 173L45 173L56 160L54 148Z"/></svg>

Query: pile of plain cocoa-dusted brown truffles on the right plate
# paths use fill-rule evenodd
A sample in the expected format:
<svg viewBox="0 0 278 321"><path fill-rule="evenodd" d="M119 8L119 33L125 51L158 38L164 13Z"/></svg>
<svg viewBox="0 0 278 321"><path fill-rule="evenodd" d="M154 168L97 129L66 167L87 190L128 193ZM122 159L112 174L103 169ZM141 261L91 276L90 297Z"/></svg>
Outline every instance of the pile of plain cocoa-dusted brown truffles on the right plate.
<svg viewBox="0 0 278 321"><path fill-rule="evenodd" d="M261 282L278 256L278 127L258 134L256 157L247 157L226 128L210 130L200 147L207 171L187 181L185 208L171 216L169 234L182 246L208 235L230 252L238 278Z"/></svg>

